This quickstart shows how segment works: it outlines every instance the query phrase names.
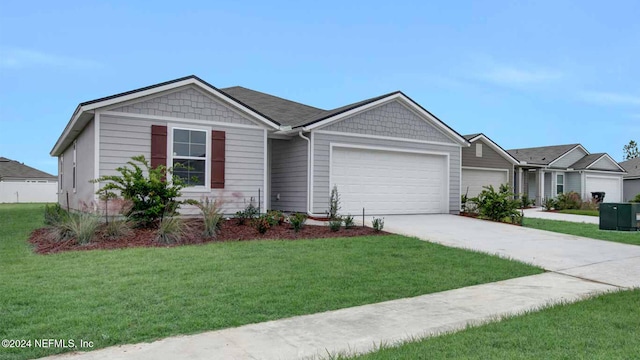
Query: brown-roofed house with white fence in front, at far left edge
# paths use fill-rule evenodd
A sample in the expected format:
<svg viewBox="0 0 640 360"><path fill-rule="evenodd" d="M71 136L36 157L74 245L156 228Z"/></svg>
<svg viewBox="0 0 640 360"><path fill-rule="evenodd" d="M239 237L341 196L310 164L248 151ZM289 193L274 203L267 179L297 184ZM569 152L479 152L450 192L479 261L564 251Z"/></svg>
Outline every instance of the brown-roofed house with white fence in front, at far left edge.
<svg viewBox="0 0 640 360"><path fill-rule="evenodd" d="M55 202L55 176L0 157L0 203Z"/></svg>

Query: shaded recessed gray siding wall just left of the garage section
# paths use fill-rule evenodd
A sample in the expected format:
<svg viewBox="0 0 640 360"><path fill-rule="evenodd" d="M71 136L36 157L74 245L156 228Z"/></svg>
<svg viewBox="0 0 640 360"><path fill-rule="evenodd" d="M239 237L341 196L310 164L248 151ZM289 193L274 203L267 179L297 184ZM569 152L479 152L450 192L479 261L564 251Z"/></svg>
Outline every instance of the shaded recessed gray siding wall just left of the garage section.
<svg viewBox="0 0 640 360"><path fill-rule="evenodd" d="M271 140L272 209L307 212L307 154L308 143L300 137Z"/></svg>

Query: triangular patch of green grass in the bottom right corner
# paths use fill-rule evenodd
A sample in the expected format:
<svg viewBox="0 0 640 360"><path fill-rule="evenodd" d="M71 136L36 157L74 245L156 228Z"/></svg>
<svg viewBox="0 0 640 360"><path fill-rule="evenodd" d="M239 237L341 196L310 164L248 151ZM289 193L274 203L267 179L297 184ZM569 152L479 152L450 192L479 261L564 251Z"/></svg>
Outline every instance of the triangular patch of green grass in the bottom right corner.
<svg viewBox="0 0 640 360"><path fill-rule="evenodd" d="M639 308L640 290L606 294L353 359L637 359Z"/></svg>

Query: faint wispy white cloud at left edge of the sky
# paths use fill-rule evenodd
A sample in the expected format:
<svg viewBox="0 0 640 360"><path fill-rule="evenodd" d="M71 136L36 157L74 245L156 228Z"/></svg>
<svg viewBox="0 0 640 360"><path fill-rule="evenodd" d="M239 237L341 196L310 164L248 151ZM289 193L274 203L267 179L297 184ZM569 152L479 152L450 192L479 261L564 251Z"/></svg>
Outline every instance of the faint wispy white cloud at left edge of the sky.
<svg viewBox="0 0 640 360"><path fill-rule="evenodd" d="M64 67L87 69L100 66L99 62L93 60L48 54L35 50L15 48L0 50L0 68Z"/></svg>

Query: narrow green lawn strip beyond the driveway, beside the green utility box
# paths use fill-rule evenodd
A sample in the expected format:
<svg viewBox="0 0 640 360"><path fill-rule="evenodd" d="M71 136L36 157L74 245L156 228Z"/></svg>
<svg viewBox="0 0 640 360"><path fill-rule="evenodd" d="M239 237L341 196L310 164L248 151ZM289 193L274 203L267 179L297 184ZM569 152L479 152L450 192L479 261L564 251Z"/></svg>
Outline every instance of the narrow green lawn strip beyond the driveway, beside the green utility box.
<svg viewBox="0 0 640 360"><path fill-rule="evenodd" d="M640 245L640 231L610 231L600 230L597 224L574 223L569 221L557 221L546 219L525 218L524 226L583 236L592 239L615 241L625 244Z"/></svg>

